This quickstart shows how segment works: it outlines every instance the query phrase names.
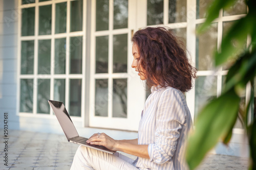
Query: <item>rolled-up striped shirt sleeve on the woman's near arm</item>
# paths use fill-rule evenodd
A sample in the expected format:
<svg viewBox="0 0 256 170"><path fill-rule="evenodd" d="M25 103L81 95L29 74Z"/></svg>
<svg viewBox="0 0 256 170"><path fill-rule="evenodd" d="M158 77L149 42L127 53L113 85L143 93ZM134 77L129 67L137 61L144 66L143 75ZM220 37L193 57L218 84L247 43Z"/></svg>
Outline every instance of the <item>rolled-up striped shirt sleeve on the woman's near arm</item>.
<svg viewBox="0 0 256 170"><path fill-rule="evenodd" d="M162 164L172 159L185 120L186 111L180 93L167 89L158 103L155 143L148 145L151 161Z"/></svg>

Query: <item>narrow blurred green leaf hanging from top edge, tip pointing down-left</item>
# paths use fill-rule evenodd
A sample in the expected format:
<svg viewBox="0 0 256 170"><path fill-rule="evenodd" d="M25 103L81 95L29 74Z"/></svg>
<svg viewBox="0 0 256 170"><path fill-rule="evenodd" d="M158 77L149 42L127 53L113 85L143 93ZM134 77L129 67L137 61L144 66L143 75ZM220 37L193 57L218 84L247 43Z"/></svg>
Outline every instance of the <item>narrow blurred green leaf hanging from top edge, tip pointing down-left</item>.
<svg viewBox="0 0 256 170"><path fill-rule="evenodd" d="M198 33L202 33L203 31L205 31L209 26L210 23L219 17L219 11L222 8L226 8L232 4L234 4L234 2L236 2L237 0L216 0L214 2L212 2L212 4L208 7L207 9L207 13L206 13L206 20L205 22L199 27L198 29Z"/></svg>

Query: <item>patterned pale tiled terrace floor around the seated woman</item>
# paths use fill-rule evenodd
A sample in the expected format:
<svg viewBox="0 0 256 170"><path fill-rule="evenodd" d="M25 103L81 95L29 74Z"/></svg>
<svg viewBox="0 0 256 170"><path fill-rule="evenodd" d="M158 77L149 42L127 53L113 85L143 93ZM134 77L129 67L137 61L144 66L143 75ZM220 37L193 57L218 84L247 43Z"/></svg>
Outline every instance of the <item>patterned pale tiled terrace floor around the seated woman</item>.
<svg viewBox="0 0 256 170"><path fill-rule="evenodd" d="M3 129L0 129L3 132ZM2 133L4 134L4 133ZM64 135L9 130L8 165L5 165L5 137L1 136L0 169L55 170L70 169L78 145L67 141ZM248 159L208 155L201 169L248 169Z"/></svg>

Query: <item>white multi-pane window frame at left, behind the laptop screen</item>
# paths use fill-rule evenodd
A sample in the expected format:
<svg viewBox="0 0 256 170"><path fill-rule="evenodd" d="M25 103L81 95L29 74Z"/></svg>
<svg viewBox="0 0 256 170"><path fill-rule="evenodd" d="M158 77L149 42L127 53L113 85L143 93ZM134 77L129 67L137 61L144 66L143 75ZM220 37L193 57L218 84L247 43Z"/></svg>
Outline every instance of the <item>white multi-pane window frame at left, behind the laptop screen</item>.
<svg viewBox="0 0 256 170"><path fill-rule="evenodd" d="M46 1L39 2L35 0L33 4L24 4L22 5L22 0L18 0L18 54L17 54L17 115L18 116L28 116L28 117L44 117L44 118L55 118L52 109L50 109L50 114L41 114L37 113L37 80L38 79L50 79L50 99L53 99L54 95L54 79L65 79L66 89L65 89L65 103L66 108L69 110L69 83L70 79L81 79L81 93L84 94L86 89L86 17L87 17L87 0L83 0L83 25L82 31L70 32L70 3L74 0L55 0L55 1ZM67 3L67 31L66 33L55 34L55 6L58 3ZM50 35L38 35L38 18L39 18L39 6L52 5L52 32ZM35 7L35 34L33 36L22 36L22 9ZM82 72L81 74L69 74L69 64L70 64L70 37L82 36ZM54 74L54 51L55 51L55 39L56 38L66 38L66 74L55 75ZM42 39L51 39L51 73L50 75L37 75L37 59L38 59L38 40ZM34 71L33 75L21 75L20 74L20 64L21 64L21 42L23 40L34 40ZM33 88L33 112L19 112L20 104L20 79L33 79L34 88ZM81 94L81 116L72 116L73 120L81 121L84 119L84 103L85 96Z"/></svg>

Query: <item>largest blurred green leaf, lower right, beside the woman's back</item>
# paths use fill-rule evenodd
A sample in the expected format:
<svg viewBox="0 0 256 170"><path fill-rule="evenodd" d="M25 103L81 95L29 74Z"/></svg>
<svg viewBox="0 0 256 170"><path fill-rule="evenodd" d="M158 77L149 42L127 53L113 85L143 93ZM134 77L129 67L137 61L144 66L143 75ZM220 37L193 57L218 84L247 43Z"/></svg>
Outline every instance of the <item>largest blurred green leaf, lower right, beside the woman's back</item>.
<svg viewBox="0 0 256 170"><path fill-rule="evenodd" d="M231 89L212 100L199 113L195 131L187 143L186 160L190 169L199 165L220 137L227 136L234 119L237 118L239 102L239 96Z"/></svg>

